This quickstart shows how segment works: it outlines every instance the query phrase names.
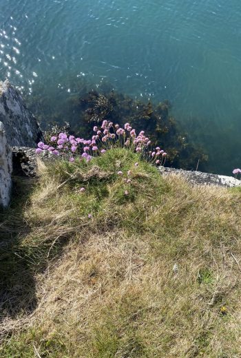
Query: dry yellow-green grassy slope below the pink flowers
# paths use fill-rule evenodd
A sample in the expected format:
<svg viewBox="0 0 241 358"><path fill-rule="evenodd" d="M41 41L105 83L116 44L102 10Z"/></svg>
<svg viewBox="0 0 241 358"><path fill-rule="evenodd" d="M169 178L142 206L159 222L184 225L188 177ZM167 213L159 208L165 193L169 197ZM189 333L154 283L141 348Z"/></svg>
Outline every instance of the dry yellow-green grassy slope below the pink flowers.
<svg viewBox="0 0 241 358"><path fill-rule="evenodd" d="M39 170L1 214L1 357L241 356L240 191L125 149Z"/></svg>

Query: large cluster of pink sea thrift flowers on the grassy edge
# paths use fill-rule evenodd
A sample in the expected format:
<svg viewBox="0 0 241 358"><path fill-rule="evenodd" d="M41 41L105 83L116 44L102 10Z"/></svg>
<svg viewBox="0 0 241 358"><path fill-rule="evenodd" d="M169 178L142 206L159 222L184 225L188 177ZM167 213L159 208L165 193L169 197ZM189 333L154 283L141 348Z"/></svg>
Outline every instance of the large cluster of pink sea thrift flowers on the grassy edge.
<svg viewBox="0 0 241 358"><path fill-rule="evenodd" d="M68 158L70 162L74 162L77 156L88 162L93 156L105 154L107 149L121 146L145 156L148 155L151 140L145 136L144 131L140 131L137 135L136 130L129 123L125 123L124 128L121 128L118 124L114 125L108 120L103 120L101 128L95 125L93 130L94 136L90 140L68 136L66 133L52 136L50 138L52 145L39 142L36 154L49 151L54 156ZM164 165L166 156L167 153L159 147L156 147L154 151L149 151L149 159L155 161L156 165Z"/></svg>

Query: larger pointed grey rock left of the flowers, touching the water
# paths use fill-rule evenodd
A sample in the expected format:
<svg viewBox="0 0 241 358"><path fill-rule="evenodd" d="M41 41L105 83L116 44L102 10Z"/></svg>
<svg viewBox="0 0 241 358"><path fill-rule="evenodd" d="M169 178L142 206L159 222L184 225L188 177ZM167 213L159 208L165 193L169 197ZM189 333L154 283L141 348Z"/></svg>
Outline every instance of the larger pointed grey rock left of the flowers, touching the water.
<svg viewBox="0 0 241 358"><path fill-rule="evenodd" d="M8 81L0 81L0 121L5 127L11 147L36 147L36 143L43 139L36 118Z"/></svg>

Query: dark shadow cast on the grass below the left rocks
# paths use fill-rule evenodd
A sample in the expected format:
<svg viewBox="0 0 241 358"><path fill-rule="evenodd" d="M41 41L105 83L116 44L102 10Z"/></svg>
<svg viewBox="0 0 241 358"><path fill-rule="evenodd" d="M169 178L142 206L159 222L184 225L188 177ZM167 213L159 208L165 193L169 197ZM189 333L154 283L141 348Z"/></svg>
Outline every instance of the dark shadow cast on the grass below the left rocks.
<svg viewBox="0 0 241 358"><path fill-rule="evenodd" d="M0 211L0 325L3 320L28 315L36 308L34 275L20 248L30 230L23 213L34 181L15 177L10 207Z"/></svg>

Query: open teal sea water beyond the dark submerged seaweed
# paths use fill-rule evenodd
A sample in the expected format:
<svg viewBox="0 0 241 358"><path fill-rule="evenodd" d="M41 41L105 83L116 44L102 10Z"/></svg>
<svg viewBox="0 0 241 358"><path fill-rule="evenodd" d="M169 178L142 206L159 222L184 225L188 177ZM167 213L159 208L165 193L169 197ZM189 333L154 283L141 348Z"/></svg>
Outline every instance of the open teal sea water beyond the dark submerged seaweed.
<svg viewBox="0 0 241 358"><path fill-rule="evenodd" d="M1 0L0 78L71 93L63 76L168 99L209 170L241 166L240 0Z"/></svg>

